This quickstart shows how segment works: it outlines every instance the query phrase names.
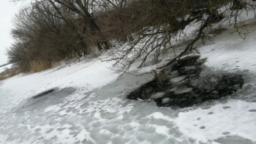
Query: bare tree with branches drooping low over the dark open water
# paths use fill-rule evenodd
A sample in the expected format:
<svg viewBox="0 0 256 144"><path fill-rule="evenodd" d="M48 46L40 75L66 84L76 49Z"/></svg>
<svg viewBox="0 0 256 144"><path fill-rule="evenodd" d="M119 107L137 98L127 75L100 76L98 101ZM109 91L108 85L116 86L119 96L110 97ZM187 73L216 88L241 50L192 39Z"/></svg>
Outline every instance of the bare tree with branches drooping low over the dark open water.
<svg viewBox="0 0 256 144"><path fill-rule="evenodd" d="M249 3L244 3L249 5ZM187 52L197 51L195 46L200 39L209 38L206 31L214 23L221 20L230 20L230 24L236 23L238 15L233 15L232 1L134 1L126 8L119 10L120 15L127 15L127 9L131 10L130 17L136 17L134 23L133 38L125 49L112 51L111 58L115 60L113 69L126 73L131 64L140 62L143 66L147 60L153 57L158 62L166 56L166 52L173 52L174 57L165 65L168 66ZM236 9L238 12L239 9ZM137 12L137 13L136 13ZM129 17L128 16L128 17ZM233 19L233 18L234 19ZM231 20L232 19L232 20ZM133 21L130 19L130 21ZM141 26L141 27L138 27ZM236 27L236 24L234 25ZM193 29L193 33L186 30ZM129 29L131 30L131 28ZM182 36L189 39L180 45ZM182 51L176 51L177 47L183 47ZM161 67L163 68L163 67Z"/></svg>

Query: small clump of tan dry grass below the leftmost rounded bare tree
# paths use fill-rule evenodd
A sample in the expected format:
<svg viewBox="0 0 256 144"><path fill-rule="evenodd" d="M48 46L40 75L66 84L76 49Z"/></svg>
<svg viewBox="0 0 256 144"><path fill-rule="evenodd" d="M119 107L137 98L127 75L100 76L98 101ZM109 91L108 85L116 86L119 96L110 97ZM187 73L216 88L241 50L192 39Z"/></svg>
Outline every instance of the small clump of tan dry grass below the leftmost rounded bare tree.
<svg viewBox="0 0 256 144"><path fill-rule="evenodd" d="M30 63L30 71L33 71L34 73L47 70L50 67L51 63L43 60L37 60Z"/></svg>

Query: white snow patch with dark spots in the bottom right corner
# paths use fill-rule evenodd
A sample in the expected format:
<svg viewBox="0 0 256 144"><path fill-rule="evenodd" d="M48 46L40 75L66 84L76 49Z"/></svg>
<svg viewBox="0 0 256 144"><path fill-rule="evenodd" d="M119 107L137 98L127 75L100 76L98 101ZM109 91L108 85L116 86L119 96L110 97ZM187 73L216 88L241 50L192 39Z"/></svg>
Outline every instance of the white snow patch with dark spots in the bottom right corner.
<svg viewBox="0 0 256 144"><path fill-rule="evenodd" d="M250 111L253 109L256 109L255 103L230 100L209 109L181 112L175 123L183 134L203 143L207 143L209 138L218 139L227 135L256 142L256 131L253 130L256 129L256 113Z"/></svg>

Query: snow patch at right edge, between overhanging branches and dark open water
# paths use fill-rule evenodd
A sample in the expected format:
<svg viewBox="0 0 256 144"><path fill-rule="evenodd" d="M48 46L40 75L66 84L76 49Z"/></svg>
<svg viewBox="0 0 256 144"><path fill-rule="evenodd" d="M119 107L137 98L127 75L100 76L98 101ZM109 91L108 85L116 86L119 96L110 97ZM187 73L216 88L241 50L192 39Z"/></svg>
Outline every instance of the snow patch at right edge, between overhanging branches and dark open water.
<svg viewBox="0 0 256 144"><path fill-rule="evenodd" d="M239 35L229 35L229 33L219 35L218 39L214 38L215 44L203 46L201 49L201 52L208 57L207 65L215 70L255 71L256 38L252 37L254 34L255 32L251 33L245 40L241 39Z"/></svg>

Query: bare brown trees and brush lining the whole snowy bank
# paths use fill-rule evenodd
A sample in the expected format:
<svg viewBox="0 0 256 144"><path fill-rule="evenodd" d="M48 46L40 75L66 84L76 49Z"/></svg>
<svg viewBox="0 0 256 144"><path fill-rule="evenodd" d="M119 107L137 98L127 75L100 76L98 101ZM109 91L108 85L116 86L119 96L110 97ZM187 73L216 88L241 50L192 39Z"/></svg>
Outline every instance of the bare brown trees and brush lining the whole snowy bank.
<svg viewBox="0 0 256 144"><path fill-rule="evenodd" d="M138 59L140 67L150 56L157 62L176 48L173 39L197 24L177 57L184 55L212 24L252 5L243 0L34 0L15 16L9 62L23 72L42 63L48 68L53 62L111 49L118 41L129 46L112 51L108 60L126 71Z"/></svg>

